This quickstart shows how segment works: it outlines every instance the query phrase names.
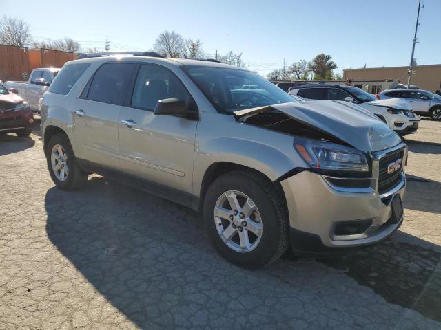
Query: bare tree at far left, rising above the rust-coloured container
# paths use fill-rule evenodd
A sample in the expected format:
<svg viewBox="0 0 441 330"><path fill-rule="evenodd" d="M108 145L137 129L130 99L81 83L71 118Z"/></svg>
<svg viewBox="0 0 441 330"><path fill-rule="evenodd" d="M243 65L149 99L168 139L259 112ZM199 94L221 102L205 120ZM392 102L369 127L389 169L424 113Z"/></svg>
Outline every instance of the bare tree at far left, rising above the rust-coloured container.
<svg viewBox="0 0 441 330"><path fill-rule="evenodd" d="M24 19L6 15L0 19L0 43L23 47L31 41L29 25Z"/></svg>

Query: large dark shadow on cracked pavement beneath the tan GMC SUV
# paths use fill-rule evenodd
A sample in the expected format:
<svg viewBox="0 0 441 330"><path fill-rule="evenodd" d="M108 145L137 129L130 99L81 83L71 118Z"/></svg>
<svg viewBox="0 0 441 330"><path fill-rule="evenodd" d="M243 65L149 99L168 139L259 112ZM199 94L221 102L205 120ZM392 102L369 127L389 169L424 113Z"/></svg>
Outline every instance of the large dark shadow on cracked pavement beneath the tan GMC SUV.
<svg viewBox="0 0 441 330"><path fill-rule="evenodd" d="M404 314L441 321L440 248L407 234L340 259L287 256L244 270L214 251L196 212L102 177L80 191L50 188L45 210L50 241L142 329L329 328L329 316L354 329L372 326L365 314L396 329Z"/></svg>

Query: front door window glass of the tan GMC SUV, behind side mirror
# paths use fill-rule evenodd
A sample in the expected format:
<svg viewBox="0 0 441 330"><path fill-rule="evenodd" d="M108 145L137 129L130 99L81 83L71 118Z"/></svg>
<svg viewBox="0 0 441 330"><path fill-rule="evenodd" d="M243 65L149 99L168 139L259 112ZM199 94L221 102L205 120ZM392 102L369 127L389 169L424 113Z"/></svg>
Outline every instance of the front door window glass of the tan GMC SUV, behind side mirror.
<svg viewBox="0 0 441 330"><path fill-rule="evenodd" d="M141 65L132 95L132 106L154 111L158 100L178 98L188 104L189 94L181 81L165 67Z"/></svg>

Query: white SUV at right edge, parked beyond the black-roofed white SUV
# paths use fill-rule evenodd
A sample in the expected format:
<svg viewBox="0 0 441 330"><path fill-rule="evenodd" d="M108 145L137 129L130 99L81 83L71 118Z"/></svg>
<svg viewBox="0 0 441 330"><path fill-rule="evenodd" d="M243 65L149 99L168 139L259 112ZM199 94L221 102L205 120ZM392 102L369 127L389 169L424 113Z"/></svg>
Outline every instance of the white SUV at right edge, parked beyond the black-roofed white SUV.
<svg viewBox="0 0 441 330"><path fill-rule="evenodd" d="M404 98L413 112L433 120L441 120L441 96L424 91L423 89L387 89L378 93L376 98L387 100L389 98Z"/></svg>

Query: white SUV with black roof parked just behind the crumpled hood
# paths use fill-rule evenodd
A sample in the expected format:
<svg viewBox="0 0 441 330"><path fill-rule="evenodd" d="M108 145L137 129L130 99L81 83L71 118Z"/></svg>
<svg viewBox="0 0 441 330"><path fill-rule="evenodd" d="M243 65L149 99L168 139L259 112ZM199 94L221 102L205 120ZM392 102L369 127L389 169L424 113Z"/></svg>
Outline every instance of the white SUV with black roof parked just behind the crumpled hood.
<svg viewBox="0 0 441 330"><path fill-rule="evenodd" d="M413 113L407 102L399 98L377 100L358 87L343 85L308 85L291 89L289 94L307 100L339 100L358 104L384 121L398 135L416 133L420 118Z"/></svg>

